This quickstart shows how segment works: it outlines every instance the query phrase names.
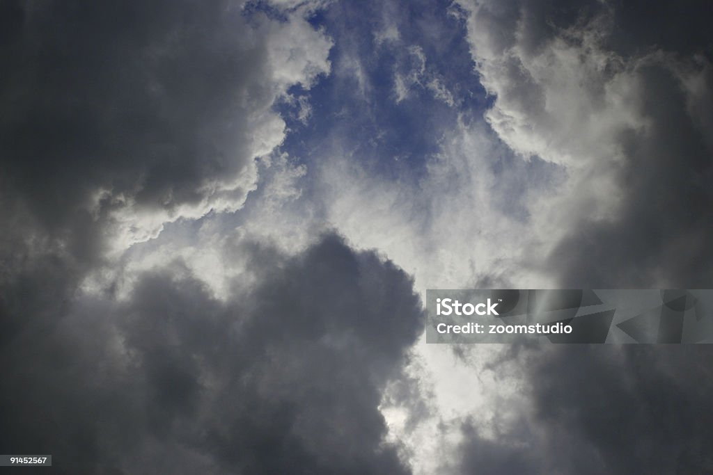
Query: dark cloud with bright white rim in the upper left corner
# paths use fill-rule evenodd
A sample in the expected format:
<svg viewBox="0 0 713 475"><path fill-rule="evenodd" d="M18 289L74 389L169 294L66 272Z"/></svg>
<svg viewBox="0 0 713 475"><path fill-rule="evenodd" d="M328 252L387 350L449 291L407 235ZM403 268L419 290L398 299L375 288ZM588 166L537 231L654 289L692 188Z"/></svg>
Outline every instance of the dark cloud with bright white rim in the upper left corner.
<svg viewBox="0 0 713 475"><path fill-rule="evenodd" d="M95 221L118 250L242 207L255 157L284 139L273 104L329 73L332 46L243 4L19 6L1 53L6 193L55 235Z"/></svg>

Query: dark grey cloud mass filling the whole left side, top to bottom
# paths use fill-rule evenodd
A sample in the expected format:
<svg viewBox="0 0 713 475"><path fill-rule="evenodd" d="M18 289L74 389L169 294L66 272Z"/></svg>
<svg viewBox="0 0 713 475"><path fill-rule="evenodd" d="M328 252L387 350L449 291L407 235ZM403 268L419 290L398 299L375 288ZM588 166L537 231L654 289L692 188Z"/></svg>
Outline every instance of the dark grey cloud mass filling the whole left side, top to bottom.
<svg viewBox="0 0 713 475"><path fill-rule="evenodd" d="M326 236L239 246L257 283L227 301L180 263L125 300L78 290L117 223L240 207L284 137L272 104L329 70L304 19L241 5L2 7L1 452L66 474L409 472L379 404L423 318L390 262Z"/></svg>

